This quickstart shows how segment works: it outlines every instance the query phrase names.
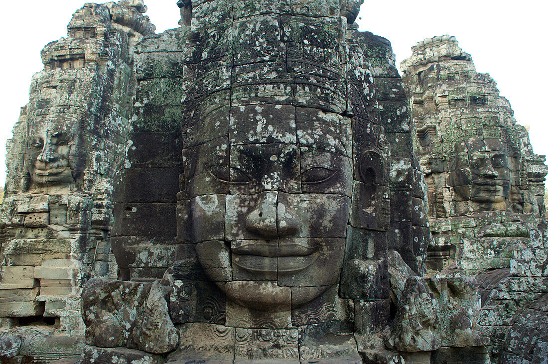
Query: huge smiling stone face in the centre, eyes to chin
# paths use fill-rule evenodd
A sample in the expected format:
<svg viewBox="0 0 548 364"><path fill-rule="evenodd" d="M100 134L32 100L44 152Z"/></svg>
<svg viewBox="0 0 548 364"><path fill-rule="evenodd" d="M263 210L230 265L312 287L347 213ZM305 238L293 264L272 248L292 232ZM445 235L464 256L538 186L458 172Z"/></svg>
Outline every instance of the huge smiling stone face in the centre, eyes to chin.
<svg viewBox="0 0 548 364"><path fill-rule="evenodd" d="M350 140L350 120L338 114L242 106L232 108L229 138L185 149L187 240L230 301L298 307L339 282Z"/></svg>

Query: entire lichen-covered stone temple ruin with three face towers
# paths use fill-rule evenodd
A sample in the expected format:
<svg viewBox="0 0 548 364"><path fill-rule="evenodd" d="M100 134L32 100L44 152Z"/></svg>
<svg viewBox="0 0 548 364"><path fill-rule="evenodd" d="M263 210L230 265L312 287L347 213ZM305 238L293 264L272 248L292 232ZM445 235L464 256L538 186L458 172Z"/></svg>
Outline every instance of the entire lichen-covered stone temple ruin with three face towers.
<svg viewBox="0 0 548 364"><path fill-rule="evenodd" d="M543 157L454 38L402 79L361 3L78 10L8 143L2 362L541 357Z"/></svg>

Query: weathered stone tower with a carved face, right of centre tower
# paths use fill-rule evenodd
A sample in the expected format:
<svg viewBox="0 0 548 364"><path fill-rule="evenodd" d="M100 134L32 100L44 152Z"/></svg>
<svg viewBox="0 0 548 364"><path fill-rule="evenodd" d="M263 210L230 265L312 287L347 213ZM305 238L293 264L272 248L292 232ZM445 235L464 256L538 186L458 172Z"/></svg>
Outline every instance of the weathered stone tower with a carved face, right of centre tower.
<svg viewBox="0 0 548 364"><path fill-rule="evenodd" d="M498 362L512 320L546 292L545 158L454 37L419 42L401 66L429 187L427 273L476 276Z"/></svg>

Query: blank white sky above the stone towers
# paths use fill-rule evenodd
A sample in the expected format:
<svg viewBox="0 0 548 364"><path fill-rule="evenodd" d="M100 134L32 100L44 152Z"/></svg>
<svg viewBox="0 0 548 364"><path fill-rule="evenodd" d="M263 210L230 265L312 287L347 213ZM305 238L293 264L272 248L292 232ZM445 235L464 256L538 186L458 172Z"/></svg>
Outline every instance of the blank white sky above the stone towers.
<svg viewBox="0 0 548 364"><path fill-rule="evenodd" d="M359 30L388 38L397 63L424 38L449 34L472 55L478 72L491 74L523 125L533 149L548 154L548 76L545 35L548 2L543 0L365 0ZM12 136L19 108L28 101L33 73L42 70L40 51L66 36L66 25L85 1L26 0L2 3L2 86L0 87L0 186L5 180L5 141ZM105 3L106 1L98 1ZM178 27L176 0L147 0L157 32ZM458 6L457 6L458 5Z"/></svg>

